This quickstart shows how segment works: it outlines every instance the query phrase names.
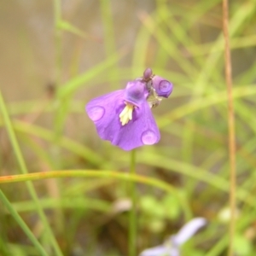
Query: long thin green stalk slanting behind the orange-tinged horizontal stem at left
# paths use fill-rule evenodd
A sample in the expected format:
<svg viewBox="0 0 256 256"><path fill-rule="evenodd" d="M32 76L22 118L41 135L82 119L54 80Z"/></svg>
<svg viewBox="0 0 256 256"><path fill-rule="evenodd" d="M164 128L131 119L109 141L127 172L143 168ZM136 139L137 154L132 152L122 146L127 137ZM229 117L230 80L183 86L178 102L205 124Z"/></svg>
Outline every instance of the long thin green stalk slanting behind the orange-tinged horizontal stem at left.
<svg viewBox="0 0 256 256"><path fill-rule="evenodd" d="M27 168L26 168L26 163L25 163L25 160L24 160L24 158L21 154L21 150L20 150L20 146L18 144L18 141L15 137L15 131L14 131L13 125L12 125L10 119L9 119L9 113L7 112L7 108L6 108L5 103L3 101L3 96L2 96L1 91L0 91L0 110L3 113L3 121L5 123L6 130L9 134L10 143L12 144L12 147L14 148L15 156L16 156L18 164L20 166L20 171L23 174L26 174L28 172ZM27 189L28 189L30 195L32 196L32 200L34 201L35 205L37 206L38 215L40 216L40 218L42 220L42 223L44 224L44 228L45 228L45 230L47 232L47 235L49 237L49 241L51 242L52 247L55 249L55 255L61 256L62 255L61 249L60 249L57 241L55 240L55 236L53 235L53 233L52 233L52 231L49 227L48 220L47 220L47 218L44 214L44 211L43 211L42 207L40 206L40 202L38 200L38 195L36 193L36 190L33 187L32 182L26 181L26 186L27 186Z"/></svg>

